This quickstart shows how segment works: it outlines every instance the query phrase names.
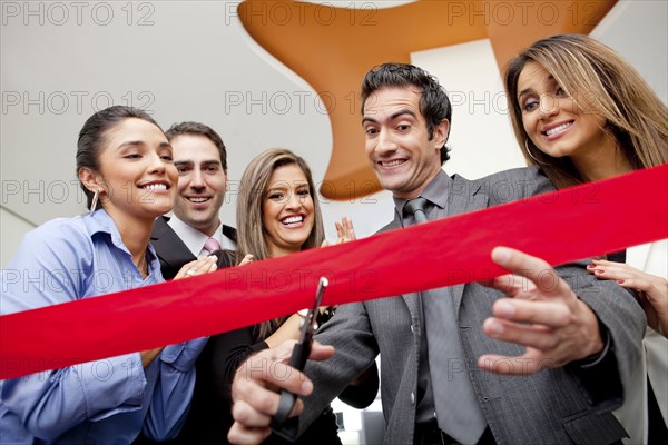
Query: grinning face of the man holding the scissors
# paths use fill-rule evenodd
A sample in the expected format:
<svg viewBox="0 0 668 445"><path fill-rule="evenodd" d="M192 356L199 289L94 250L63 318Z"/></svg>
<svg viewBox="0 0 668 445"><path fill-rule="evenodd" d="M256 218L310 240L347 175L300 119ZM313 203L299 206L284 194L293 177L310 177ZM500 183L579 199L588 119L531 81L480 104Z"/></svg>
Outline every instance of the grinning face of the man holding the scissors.
<svg viewBox="0 0 668 445"><path fill-rule="evenodd" d="M384 189L397 198L420 195L441 169L449 123L434 127L430 140L415 88L381 88L364 105L366 156Z"/></svg>

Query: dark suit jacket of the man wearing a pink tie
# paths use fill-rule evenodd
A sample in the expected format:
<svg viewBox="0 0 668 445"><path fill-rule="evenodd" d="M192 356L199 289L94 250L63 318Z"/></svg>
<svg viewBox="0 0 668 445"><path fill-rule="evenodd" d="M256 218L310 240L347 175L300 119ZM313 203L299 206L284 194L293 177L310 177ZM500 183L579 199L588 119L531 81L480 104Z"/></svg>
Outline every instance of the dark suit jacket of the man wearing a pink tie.
<svg viewBox="0 0 668 445"><path fill-rule="evenodd" d="M186 263L194 261L197 258L169 227L168 220L169 217L166 216L156 219L150 234L150 244L158 254L163 277L173 279ZM236 229L233 227L223 225L223 235L236 241Z"/></svg>

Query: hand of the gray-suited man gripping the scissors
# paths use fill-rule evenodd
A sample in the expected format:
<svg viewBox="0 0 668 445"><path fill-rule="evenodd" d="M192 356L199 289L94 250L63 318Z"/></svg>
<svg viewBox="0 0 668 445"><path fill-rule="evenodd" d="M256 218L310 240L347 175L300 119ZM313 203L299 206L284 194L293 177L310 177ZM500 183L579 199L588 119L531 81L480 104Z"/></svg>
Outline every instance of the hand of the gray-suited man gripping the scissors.
<svg viewBox="0 0 668 445"><path fill-rule="evenodd" d="M285 342L276 348L262 350L242 364L232 384L232 415L234 425L227 439L233 444L258 444L272 429L272 417L278 411L278 389L287 389L298 396L313 392L311 380L287 365L295 342ZM313 342L312 360L324 360L334 355L332 346ZM304 404L297 400L291 417L299 415Z"/></svg>

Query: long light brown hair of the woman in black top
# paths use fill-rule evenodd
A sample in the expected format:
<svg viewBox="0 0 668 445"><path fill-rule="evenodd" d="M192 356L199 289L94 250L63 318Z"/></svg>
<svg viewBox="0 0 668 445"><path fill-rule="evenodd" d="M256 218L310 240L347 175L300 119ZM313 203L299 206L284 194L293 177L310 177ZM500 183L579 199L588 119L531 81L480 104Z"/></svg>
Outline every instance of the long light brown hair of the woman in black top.
<svg viewBox="0 0 668 445"><path fill-rule="evenodd" d="M247 254L253 255L256 260L269 257L266 231L263 225L263 201L266 197L272 174L278 167L287 165L296 165L302 169L308 181L308 191L313 198L315 221L308 238L302 245L302 250L320 247L325 239L323 217L308 165L302 157L291 150L284 148L269 149L253 159L242 176L236 212L237 261L240 261ZM285 319L285 317L276 318L259 324L254 333L255 340L261 342L267 338Z"/></svg>

